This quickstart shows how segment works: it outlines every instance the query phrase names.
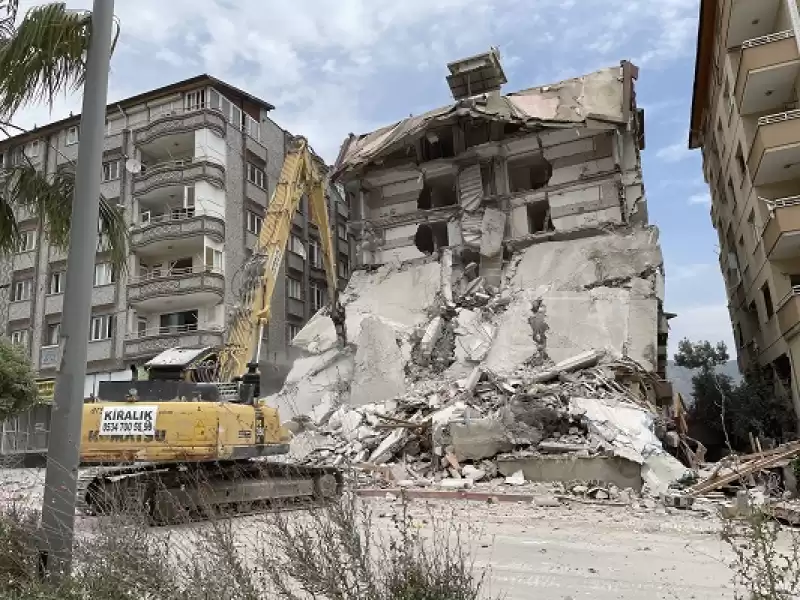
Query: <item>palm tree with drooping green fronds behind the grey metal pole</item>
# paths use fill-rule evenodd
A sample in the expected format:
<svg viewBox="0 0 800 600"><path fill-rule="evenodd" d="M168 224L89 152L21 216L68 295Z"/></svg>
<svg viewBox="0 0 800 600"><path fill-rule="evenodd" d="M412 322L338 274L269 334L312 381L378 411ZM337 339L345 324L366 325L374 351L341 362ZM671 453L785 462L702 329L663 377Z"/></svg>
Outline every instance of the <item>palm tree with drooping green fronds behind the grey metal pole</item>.
<svg viewBox="0 0 800 600"><path fill-rule="evenodd" d="M91 37L89 12L49 3L30 9L18 21L18 8L19 0L0 0L0 11L6 10L0 16L0 131L7 136L21 131L11 124L17 110L33 102L52 105L56 94L82 86ZM0 254L20 247L15 209L21 207L42 220L52 244L68 246L75 190L72 167L44 175L25 158L5 169L0 181ZM102 196L99 202L101 239L116 266L124 269L128 229L122 211Z"/></svg>

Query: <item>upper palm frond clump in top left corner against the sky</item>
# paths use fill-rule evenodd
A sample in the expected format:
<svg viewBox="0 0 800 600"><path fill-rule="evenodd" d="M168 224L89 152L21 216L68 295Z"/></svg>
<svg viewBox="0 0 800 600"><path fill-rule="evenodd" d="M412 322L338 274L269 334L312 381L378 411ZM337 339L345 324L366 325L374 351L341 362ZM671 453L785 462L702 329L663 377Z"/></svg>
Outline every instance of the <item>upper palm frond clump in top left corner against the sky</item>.
<svg viewBox="0 0 800 600"><path fill-rule="evenodd" d="M69 11L62 2L30 9L16 27L4 21L0 117L10 118L30 102L52 104L59 92L83 84L91 23L91 13Z"/></svg>

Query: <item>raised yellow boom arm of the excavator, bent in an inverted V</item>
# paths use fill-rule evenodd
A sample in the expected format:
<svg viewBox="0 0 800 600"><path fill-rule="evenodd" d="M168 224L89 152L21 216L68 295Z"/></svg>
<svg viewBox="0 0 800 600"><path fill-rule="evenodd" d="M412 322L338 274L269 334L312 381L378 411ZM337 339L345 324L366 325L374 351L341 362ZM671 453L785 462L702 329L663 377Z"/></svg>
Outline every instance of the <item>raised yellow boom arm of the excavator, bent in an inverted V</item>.
<svg viewBox="0 0 800 600"><path fill-rule="evenodd" d="M244 267L239 302L228 326L228 339L220 353L220 376L230 381L258 362L262 332L268 325L272 296L289 242L292 218L303 195L309 200L313 222L320 234L323 264L328 281L331 317L340 340L345 337L344 311L339 304L336 253L325 201L325 184L314 164L308 142L298 137L281 168L280 180L267 207L258 243Z"/></svg>

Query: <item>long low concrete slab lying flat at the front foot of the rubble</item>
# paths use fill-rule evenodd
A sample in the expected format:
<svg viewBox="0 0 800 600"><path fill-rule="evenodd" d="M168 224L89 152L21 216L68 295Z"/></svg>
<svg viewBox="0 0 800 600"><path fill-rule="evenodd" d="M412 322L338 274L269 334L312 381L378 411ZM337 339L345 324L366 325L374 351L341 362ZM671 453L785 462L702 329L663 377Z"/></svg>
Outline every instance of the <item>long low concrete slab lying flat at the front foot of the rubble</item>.
<svg viewBox="0 0 800 600"><path fill-rule="evenodd" d="M497 459L497 470L505 476L522 471L528 481L602 481L622 489L642 489L640 466L618 456L501 457Z"/></svg>

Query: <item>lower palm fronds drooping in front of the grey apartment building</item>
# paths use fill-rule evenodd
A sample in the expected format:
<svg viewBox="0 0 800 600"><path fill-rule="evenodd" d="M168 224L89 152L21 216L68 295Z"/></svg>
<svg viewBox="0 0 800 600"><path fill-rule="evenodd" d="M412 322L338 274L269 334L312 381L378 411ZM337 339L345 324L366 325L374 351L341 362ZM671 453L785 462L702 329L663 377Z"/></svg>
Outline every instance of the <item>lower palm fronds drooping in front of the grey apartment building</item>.
<svg viewBox="0 0 800 600"><path fill-rule="evenodd" d="M19 247L19 231L13 218L14 207L27 208L32 216L44 223L51 244L66 249L72 221L72 202L75 194L75 173L61 169L48 177L31 164L23 164L7 169L8 184L0 191L0 253L13 251ZM103 196L100 202L100 238L106 240L111 261L116 268L124 271L128 257L128 227L123 212ZM7 217L4 208L9 207L13 226L3 223Z"/></svg>

